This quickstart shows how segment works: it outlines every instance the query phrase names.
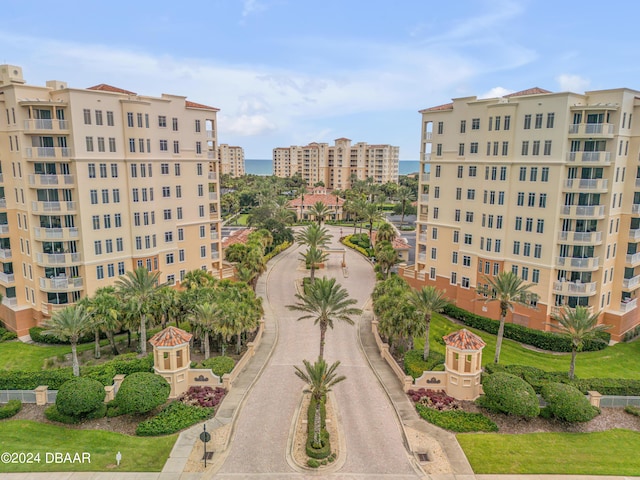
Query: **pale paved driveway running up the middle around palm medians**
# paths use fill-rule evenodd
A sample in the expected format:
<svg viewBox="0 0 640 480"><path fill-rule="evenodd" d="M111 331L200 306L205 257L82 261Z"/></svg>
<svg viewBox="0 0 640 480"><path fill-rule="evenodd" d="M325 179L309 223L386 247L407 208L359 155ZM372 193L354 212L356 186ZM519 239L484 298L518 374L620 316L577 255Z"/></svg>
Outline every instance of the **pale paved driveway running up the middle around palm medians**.
<svg viewBox="0 0 640 480"><path fill-rule="evenodd" d="M334 233L337 242L338 229ZM302 382L294 365L315 360L319 350L319 329L312 321L297 321L297 312L285 305L294 303L294 280L306 275L300 269L299 252L291 248L277 258L267 279L267 299L278 326L278 340L262 375L248 394L240 412L234 438L225 463L215 478L249 478L270 473L273 478L303 478L286 460L292 418L300 401ZM358 253L347 251L348 278L340 268L342 258L331 254L320 276L339 279L360 307L368 301L375 282L370 264ZM342 420L346 444L344 465L333 478L418 478L402 443L395 412L370 370L357 340L357 329L336 325L327 333L325 358L341 361L339 373L347 380L334 393ZM315 476L315 478L318 478Z"/></svg>

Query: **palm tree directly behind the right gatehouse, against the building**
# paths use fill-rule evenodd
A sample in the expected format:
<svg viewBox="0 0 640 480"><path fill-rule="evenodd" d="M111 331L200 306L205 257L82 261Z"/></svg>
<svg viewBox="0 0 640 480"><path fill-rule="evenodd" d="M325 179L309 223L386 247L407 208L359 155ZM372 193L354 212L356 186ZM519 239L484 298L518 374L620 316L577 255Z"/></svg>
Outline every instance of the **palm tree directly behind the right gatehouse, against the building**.
<svg viewBox="0 0 640 480"><path fill-rule="evenodd" d="M488 291L478 291L479 294L490 294L485 303L500 303L500 327L498 328L498 338L496 339L496 354L494 363L500 362L500 349L502 348L502 338L504 336L504 322L507 312L513 311L514 306L529 305L535 300L536 295L530 291L534 286L532 283L524 281L513 272L500 272L495 277L485 277L488 284Z"/></svg>

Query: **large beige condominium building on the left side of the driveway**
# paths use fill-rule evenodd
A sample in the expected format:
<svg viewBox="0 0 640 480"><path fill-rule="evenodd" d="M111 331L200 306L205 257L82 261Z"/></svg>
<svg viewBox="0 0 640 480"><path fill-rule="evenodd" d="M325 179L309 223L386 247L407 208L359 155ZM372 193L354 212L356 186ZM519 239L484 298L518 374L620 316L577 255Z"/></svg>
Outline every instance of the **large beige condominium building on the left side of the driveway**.
<svg viewBox="0 0 640 480"><path fill-rule="evenodd" d="M218 109L0 66L0 318L19 335L126 271L221 269Z"/></svg>

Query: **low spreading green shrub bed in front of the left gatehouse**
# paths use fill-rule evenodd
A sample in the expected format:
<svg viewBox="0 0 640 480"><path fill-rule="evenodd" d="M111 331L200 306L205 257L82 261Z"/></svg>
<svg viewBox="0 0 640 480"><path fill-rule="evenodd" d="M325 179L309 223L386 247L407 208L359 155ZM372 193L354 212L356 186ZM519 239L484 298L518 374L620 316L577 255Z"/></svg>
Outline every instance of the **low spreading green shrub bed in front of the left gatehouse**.
<svg viewBox="0 0 640 480"><path fill-rule="evenodd" d="M146 437L169 435L207 420L214 413L215 409L213 408L196 407L174 401L163 408L155 417L141 422L136 428L136 435Z"/></svg>

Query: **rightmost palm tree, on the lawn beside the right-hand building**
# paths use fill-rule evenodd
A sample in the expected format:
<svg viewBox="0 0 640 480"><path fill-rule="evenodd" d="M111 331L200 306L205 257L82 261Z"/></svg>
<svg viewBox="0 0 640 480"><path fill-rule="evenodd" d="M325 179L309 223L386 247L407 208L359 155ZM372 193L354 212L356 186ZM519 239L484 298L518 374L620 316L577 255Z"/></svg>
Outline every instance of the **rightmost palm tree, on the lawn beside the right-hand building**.
<svg viewBox="0 0 640 480"><path fill-rule="evenodd" d="M587 307L578 305L576 308L565 307L559 315L553 315L559 325L549 323L560 333L564 333L571 339L571 364L569 365L569 378L573 379L576 370L576 357L582 350L584 341L595 337L597 333L611 328L611 325L598 325L600 312L590 314Z"/></svg>

